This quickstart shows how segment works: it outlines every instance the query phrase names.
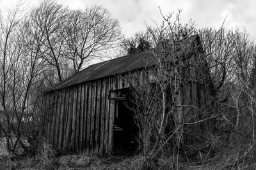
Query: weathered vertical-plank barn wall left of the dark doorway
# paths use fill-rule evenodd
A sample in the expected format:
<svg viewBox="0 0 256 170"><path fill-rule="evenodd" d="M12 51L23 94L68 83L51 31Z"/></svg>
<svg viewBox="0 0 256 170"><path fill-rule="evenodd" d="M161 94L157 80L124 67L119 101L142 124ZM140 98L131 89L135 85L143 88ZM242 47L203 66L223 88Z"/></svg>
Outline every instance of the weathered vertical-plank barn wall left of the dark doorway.
<svg viewBox="0 0 256 170"><path fill-rule="evenodd" d="M141 73L142 74L142 73ZM115 90L130 87L116 76L44 94L40 138L67 152L108 155L113 147Z"/></svg>

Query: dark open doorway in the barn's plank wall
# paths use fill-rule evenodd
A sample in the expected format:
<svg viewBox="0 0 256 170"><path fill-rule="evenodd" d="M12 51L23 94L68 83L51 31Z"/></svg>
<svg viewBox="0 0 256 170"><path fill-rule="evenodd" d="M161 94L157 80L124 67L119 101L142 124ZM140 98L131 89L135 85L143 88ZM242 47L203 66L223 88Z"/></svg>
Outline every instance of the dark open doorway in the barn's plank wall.
<svg viewBox="0 0 256 170"><path fill-rule="evenodd" d="M129 89L116 92L116 111L114 120L114 154L134 155L138 148L138 126L134 121L134 104Z"/></svg>

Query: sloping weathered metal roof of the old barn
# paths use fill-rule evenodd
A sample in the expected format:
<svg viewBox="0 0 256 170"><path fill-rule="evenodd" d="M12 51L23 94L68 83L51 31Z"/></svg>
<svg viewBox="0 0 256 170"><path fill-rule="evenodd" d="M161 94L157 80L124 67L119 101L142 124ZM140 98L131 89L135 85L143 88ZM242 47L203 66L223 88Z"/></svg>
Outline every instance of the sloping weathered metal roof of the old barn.
<svg viewBox="0 0 256 170"><path fill-rule="evenodd" d="M199 39L200 41L198 35L191 36L186 40L191 43L192 41L196 41L195 39ZM63 89L65 87L84 83L86 81L97 80L99 78L104 78L117 73L124 73L126 71L139 69L147 66L150 64L150 62L152 63L154 59L156 59L156 57L150 51L146 51L93 64L77 72L73 76L70 76L66 80L54 85L48 90L48 92L51 90Z"/></svg>

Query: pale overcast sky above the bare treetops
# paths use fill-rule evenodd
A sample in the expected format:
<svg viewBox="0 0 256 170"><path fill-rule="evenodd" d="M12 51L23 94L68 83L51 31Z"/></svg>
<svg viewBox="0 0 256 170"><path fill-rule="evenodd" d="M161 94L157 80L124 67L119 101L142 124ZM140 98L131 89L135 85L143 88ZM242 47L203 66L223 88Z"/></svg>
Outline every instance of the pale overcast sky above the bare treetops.
<svg viewBox="0 0 256 170"><path fill-rule="evenodd" d="M1 8L11 6L19 0L0 0ZM31 6L39 0L27 0ZM225 27L246 29L256 37L256 1L255 0L59 0L72 9L83 9L94 4L107 8L113 17L120 20L125 36L145 30L145 23L152 20L161 22L158 6L164 13L182 9L182 22L191 18L196 27L220 27L226 18Z"/></svg>

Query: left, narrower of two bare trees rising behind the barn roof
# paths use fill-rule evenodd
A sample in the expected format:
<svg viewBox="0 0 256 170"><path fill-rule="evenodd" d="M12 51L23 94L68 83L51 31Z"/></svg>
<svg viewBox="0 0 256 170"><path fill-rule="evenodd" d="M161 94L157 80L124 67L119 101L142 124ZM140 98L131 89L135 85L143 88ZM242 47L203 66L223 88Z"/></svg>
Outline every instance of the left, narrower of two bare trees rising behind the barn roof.
<svg viewBox="0 0 256 170"><path fill-rule="evenodd" d="M67 8L55 1L43 1L31 11L31 21L35 30L40 31L42 38L40 53L50 66L56 69L59 81L62 81L61 66L65 55L65 23L68 16ZM35 35L36 37L37 35Z"/></svg>

